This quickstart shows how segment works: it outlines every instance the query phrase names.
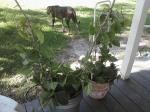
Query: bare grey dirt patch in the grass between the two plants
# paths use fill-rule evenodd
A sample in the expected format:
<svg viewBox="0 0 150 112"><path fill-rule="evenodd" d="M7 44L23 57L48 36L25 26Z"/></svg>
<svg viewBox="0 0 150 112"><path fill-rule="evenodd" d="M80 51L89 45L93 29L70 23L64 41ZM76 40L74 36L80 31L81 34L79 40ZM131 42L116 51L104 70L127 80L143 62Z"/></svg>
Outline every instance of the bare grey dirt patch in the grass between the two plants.
<svg viewBox="0 0 150 112"><path fill-rule="evenodd" d="M69 43L68 48L64 49L56 59L61 63L71 63L77 61L80 56L86 55L88 49L87 39L75 37Z"/></svg>

